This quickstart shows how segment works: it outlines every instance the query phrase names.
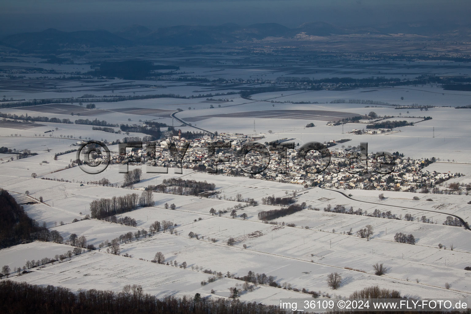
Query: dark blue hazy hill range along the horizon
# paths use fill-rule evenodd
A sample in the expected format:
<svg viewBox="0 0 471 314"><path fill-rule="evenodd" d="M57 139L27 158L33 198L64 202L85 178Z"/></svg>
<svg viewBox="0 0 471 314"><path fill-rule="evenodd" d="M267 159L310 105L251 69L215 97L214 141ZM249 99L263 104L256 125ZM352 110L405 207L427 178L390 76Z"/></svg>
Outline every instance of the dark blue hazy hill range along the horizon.
<svg viewBox="0 0 471 314"><path fill-rule="evenodd" d="M7 36L2 38L0 42L5 46L23 51L54 51L64 48L83 49L133 45L195 46L239 40L260 40L266 37L292 38L300 33L314 36L357 33L467 36L471 34L471 25L429 20L414 23L394 22L365 25L364 27L344 27L318 21L303 23L295 28L288 28L277 23L259 23L248 26L227 23L218 26L178 25L151 30L135 24L114 33L103 30L62 32L56 29L47 29L42 32Z"/></svg>

